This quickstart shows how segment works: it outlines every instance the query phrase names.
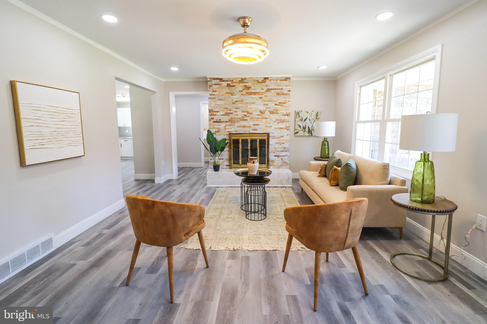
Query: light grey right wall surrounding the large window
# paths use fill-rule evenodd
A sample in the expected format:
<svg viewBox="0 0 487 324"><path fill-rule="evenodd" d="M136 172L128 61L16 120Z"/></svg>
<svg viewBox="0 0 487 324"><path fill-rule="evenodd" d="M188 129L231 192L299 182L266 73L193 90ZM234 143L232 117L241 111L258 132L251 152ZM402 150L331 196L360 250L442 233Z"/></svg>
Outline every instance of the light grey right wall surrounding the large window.
<svg viewBox="0 0 487 324"><path fill-rule="evenodd" d="M459 114L458 134L456 152L434 153L433 162L436 195L445 196L458 205L452 232L452 243L457 246L465 244L464 235L475 223L477 214L487 216L486 17L487 1L478 1L349 72L336 84L337 136L333 150L350 152L356 81L443 43L437 112ZM430 217L417 214L408 217L430 227ZM443 219L437 218L437 234L441 232ZM470 245L465 250L487 261L487 233L473 230Z"/></svg>

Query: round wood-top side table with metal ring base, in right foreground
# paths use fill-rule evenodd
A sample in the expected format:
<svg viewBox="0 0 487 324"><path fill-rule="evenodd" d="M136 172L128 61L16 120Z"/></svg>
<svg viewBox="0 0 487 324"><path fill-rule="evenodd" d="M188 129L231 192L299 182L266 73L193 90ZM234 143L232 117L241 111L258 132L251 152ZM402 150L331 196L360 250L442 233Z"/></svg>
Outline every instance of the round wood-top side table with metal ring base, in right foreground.
<svg viewBox="0 0 487 324"><path fill-rule="evenodd" d="M422 204L413 202L409 199L409 193L398 193L391 197L394 205L397 205L401 208L405 208L407 210L411 210L415 213L431 215L431 235L430 235L430 250L428 256L413 253L413 252L396 252L391 255L391 264L394 268L399 270L400 272L409 275L415 279L429 281L429 282L440 282L448 279L448 260L450 259L450 240L451 240L451 223L453 220L453 212L458 208L457 205L451 202L448 199L436 197L434 203L431 204ZM436 215L448 215L448 229L447 229L447 242L445 247L445 263L441 264L439 261L433 259L433 239L434 239L434 219ZM400 255L409 255L409 256L420 256L425 259L430 260L431 262L439 265L443 268L443 277L441 278L423 278L412 273L408 273L402 269L400 269L394 263L394 256Z"/></svg>

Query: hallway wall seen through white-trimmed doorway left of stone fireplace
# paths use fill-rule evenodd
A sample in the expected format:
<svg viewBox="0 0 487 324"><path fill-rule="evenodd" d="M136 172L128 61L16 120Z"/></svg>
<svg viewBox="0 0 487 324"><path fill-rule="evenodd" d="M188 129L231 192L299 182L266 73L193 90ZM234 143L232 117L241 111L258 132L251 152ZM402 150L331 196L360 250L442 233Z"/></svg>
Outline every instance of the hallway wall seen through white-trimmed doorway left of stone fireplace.
<svg viewBox="0 0 487 324"><path fill-rule="evenodd" d="M176 96L176 140L179 166L201 165L202 144L198 139L202 137L200 102L207 101L207 95Z"/></svg>

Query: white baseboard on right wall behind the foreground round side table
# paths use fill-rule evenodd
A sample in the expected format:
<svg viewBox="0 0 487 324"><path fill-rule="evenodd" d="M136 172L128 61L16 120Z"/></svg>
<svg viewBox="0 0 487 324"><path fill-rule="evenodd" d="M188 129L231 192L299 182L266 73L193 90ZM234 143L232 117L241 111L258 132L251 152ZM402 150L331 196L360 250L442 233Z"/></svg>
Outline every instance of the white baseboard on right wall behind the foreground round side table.
<svg viewBox="0 0 487 324"><path fill-rule="evenodd" d="M412 219L406 218L406 228L409 229L414 234L416 234L417 236L419 236L421 239L424 239L427 242L430 241L430 235L431 235L430 229L424 227L423 225L417 222L414 222ZM435 233L433 241L434 241L434 246L436 246L440 241L440 236ZM440 244L439 249L441 252L445 252L445 247L443 246L443 244ZM450 244L450 253L451 250L454 250L457 255L461 256L460 248L455 244ZM482 261L476 256L472 256L468 252L465 251L462 252L463 255L466 257L466 259L462 260L461 257L455 257L454 260L458 261L458 263L463 265L471 272L477 274L479 277L482 277L484 280L487 280L487 263Z"/></svg>

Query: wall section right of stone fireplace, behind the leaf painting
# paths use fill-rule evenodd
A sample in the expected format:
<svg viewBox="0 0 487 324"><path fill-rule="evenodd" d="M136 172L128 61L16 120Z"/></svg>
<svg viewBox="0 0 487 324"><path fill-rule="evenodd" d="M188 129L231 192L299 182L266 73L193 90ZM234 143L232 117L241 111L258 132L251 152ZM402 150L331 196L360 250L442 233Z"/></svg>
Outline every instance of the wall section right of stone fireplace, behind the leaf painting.
<svg viewBox="0 0 487 324"><path fill-rule="evenodd" d="M323 137L294 136L296 110L320 110L321 121L334 120L335 81L292 80L291 79L291 141L289 169L293 173L308 170L308 162L313 161L321 150ZM330 152L334 152L334 137L328 137ZM295 174L294 176L297 176Z"/></svg>

